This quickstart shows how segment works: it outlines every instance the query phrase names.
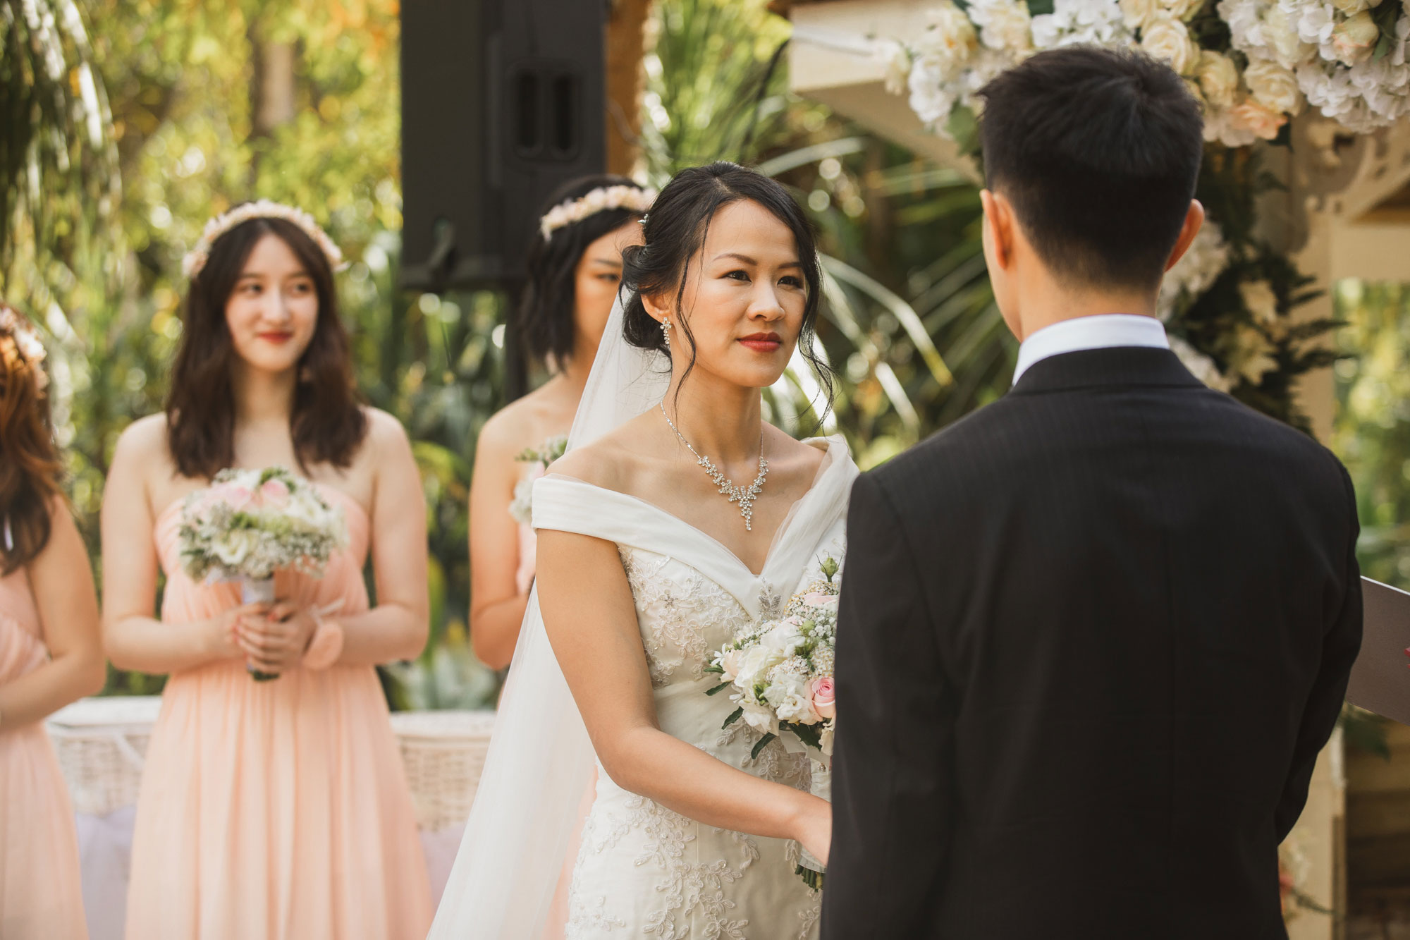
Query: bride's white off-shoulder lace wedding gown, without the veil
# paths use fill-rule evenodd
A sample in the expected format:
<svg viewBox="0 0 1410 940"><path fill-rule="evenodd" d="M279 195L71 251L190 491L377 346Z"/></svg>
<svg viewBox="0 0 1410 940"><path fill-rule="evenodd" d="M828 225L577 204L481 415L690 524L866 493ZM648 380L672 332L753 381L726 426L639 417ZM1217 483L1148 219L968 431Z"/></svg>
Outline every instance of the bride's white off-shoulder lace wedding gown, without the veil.
<svg viewBox="0 0 1410 940"><path fill-rule="evenodd" d="M706 696L711 653L759 617L773 617L828 555L842 559L845 507L856 467L840 439L812 490L784 521L760 574L680 518L636 497L550 474L534 484L533 522L618 545L636 601L660 727L730 766L808 789L809 761ZM794 874L797 843L702 826L613 783L598 768L568 889L567 940L808 940L822 895Z"/></svg>

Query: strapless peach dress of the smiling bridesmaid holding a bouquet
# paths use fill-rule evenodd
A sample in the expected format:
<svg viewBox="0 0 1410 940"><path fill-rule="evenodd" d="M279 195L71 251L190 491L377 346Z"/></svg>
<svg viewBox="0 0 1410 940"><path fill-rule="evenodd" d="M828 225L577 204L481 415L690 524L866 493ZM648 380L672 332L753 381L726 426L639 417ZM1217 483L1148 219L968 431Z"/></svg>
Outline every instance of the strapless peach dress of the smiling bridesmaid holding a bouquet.
<svg viewBox="0 0 1410 940"><path fill-rule="evenodd" d="M368 608L368 518L323 579L281 573L279 596L334 614ZM157 521L162 620L206 620L235 584L180 570L180 504ZM173 673L137 800L128 940L422 940L426 860L386 700L371 666L295 669L254 682L243 661Z"/></svg>

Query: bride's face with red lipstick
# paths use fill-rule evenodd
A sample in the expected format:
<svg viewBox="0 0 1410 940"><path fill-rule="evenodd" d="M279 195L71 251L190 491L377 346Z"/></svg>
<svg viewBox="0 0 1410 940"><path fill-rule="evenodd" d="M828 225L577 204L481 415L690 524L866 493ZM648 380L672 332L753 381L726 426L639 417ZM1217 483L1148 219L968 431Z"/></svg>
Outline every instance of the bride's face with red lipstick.
<svg viewBox="0 0 1410 940"><path fill-rule="evenodd" d="M675 306L674 295L661 299L671 302L651 311L658 319ZM711 220L681 295L695 368L746 388L773 385L798 344L805 303L807 282L788 226L757 202L729 203ZM671 330L681 368L691 357L682 333Z"/></svg>

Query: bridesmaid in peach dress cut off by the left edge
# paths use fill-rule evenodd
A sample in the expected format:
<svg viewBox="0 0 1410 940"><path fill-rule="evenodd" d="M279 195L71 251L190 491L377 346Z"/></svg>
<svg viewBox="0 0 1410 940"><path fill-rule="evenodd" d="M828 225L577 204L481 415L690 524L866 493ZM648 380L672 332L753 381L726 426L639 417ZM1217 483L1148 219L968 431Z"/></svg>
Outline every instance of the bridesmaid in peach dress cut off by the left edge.
<svg viewBox="0 0 1410 940"><path fill-rule="evenodd" d="M73 807L44 717L103 687L103 646L42 360L0 303L0 937L82 940Z"/></svg>

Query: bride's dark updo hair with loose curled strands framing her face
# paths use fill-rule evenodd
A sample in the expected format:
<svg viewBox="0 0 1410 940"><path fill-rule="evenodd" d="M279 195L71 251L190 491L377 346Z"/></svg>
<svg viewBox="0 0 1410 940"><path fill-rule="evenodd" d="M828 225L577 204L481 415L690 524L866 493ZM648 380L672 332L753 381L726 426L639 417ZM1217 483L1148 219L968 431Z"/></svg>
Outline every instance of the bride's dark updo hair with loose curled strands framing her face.
<svg viewBox="0 0 1410 940"><path fill-rule="evenodd" d="M802 330L798 333L798 350L818 373L830 408L832 370L812 347L814 325L818 320L818 303L822 295L818 275L818 244L812 224L783 185L747 167L718 161L708 167L682 169L656 198L643 226L646 243L627 246L622 251L622 285L630 291L623 311L622 332L626 342L637 349L670 354L661 325L646 312L642 295L660 296L674 289L675 311L680 313L685 299L685 282L689 279L691 261L705 244L711 219L722 206L743 199L750 199L767 209L794 234L804 282L808 285L802 309ZM691 363L681 377L684 382L685 377L695 368L695 337L691 335L685 318L677 318L674 326L691 344ZM680 385L677 385L677 391L680 391Z"/></svg>

